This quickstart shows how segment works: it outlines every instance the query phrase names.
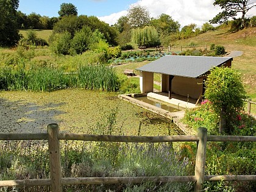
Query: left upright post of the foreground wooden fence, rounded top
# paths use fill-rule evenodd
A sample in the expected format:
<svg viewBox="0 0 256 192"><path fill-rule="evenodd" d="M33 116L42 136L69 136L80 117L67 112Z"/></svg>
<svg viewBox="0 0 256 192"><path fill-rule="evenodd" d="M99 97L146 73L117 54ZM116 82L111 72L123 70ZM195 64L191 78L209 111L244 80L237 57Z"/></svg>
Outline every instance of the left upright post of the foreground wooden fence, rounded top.
<svg viewBox="0 0 256 192"><path fill-rule="evenodd" d="M47 126L52 192L62 192L62 169L60 165L59 125Z"/></svg>

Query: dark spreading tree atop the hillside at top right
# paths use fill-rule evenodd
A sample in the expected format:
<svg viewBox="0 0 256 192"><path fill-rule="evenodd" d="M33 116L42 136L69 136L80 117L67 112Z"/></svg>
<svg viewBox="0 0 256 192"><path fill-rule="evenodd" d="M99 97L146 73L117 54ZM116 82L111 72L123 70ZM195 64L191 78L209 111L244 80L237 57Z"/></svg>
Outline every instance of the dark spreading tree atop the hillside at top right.
<svg viewBox="0 0 256 192"><path fill-rule="evenodd" d="M218 5L223 10L215 16L210 23L224 23L229 18L234 18L238 13L242 13L241 28L244 28L246 13L256 6L255 0L215 0L213 5Z"/></svg>

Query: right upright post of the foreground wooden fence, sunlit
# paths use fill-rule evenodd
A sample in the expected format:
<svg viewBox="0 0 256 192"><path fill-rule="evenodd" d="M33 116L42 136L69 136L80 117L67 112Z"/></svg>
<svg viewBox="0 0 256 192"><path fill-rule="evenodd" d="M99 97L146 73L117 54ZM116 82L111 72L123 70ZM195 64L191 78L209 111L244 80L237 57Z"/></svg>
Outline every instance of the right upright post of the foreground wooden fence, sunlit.
<svg viewBox="0 0 256 192"><path fill-rule="evenodd" d="M204 183L207 129L204 127L199 127L197 136L199 138L199 142L197 146L196 166L194 171L194 175L196 177L194 191L196 192L202 190L202 183Z"/></svg>

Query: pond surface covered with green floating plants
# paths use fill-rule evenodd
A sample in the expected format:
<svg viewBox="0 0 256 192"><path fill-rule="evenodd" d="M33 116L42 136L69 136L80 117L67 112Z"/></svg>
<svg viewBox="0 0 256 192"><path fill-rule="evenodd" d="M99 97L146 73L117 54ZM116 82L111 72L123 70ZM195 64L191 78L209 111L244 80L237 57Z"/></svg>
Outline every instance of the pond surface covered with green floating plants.
<svg viewBox="0 0 256 192"><path fill-rule="evenodd" d="M117 95L80 89L51 93L0 91L0 129L46 132L48 124L58 123L60 131L94 134L108 130L111 126L107 119L114 114L113 135L181 134L174 124Z"/></svg>

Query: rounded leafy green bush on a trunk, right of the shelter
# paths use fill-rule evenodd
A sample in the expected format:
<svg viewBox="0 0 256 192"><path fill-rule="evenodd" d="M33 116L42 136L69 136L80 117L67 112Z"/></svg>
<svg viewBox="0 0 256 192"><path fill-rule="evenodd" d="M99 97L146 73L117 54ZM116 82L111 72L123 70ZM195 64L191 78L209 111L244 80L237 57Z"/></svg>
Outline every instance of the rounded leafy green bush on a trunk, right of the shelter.
<svg viewBox="0 0 256 192"><path fill-rule="evenodd" d="M224 113L227 129L232 130L232 121L243 110L246 92L241 82L241 74L231 68L216 67L208 75L205 98L212 102L213 110Z"/></svg>

